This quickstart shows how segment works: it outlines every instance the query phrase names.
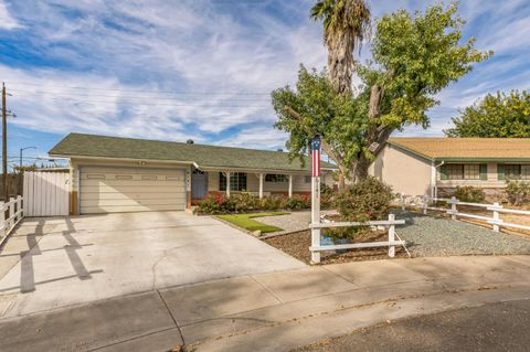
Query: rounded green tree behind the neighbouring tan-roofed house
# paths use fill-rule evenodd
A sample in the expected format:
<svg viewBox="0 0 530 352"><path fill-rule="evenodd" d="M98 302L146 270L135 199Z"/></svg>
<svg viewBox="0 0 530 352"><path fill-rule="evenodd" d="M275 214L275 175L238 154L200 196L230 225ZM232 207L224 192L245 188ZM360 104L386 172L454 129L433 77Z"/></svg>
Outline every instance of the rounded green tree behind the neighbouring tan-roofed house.
<svg viewBox="0 0 530 352"><path fill-rule="evenodd" d="M453 124L453 128L444 131L448 137L529 138L530 93L488 94L460 111Z"/></svg>

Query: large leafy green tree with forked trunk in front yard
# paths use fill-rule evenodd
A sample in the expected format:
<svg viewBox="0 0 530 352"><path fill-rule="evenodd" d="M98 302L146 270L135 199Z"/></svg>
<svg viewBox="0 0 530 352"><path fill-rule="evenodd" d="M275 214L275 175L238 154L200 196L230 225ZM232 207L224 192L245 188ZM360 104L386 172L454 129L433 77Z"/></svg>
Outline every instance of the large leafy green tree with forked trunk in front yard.
<svg viewBox="0 0 530 352"><path fill-rule="evenodd" d="M427 127L426 111L438 103L435 95L490 55L477 51L474 39L460 43L464 21L456 11L456 3L436 4L424 13L399 10L381 18L371 44L373 60L357 66L362 83L354 96L329 93L324 83L307 92L300 81L296 92L273 92L275 126L289 134L292 157L320 135L341 175L356 181L368 175L392 131L406 125ZM336 95L349 104L329 103L340 99Z"/></svg>

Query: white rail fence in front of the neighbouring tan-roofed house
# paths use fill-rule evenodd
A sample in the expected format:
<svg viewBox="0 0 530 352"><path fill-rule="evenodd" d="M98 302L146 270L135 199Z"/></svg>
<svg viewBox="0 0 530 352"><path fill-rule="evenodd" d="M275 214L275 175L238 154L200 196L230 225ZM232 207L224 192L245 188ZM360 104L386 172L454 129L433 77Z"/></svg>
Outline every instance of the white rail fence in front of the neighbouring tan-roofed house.
<svg viewBox="0 0 530 352"><path fill-rule="evenodd" d="M407 202L407 200L412 200L412 202ZM416 202L416 200L421 200L421 202ZM444 202L444 203L447 203L448 205L451 205L451 207L446 209L446 207L439 207L439 206L431 206L430 205L431 202ZM458 211L458 205L483 207L483 209L486 209L487 211L491 212L491 216L463 213L463 212ZM530 231L530 226L528 226L528 225L509 223L509 222L505 222L504 220L500 218L501 213L530 215L530 211L506 209L506 207L502 207L502 205L500 205L499 203L492 203L492 204L469 203L469 202L460 202L455 196L453 196L451 199L447 199L447 198L431 198L431 196L426 196L426 195L401 194L401 207L402 207L402 210L405 210L407 206L421 207L422 212L424 214L427 214L427 211L430 211L430 210L445 212L448 215L451 215L452 220L456 220L457 217L468 217L468 218L484 220L488 224L492 225L492 230L495 232L499 232L501 227L512 227L512 228L529 230Z"/></svg>

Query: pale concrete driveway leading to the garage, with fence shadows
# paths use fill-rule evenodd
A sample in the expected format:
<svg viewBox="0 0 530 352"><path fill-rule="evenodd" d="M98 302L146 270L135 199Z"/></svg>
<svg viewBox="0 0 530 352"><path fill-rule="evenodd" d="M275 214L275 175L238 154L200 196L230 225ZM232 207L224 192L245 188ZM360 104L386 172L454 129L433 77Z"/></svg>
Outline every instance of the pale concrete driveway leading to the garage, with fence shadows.
<svg viewBox="0 0 530 352"><path fill-rule="evenodd" d="M0 318L304 266L183 212L28 218L0 253Z"/></svg>

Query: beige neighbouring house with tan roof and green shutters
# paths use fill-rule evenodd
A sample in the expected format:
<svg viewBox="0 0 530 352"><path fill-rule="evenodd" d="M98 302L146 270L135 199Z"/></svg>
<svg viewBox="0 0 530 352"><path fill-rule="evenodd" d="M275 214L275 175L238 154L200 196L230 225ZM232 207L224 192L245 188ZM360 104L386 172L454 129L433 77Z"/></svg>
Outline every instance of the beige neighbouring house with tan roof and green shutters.
<svg viewBox="0 0 530 352"><path fill-rule="evenodd" d="M494 196L508 179L530 180L530 138L390 138L370 174L411 195L473 185Z"/></svg>

